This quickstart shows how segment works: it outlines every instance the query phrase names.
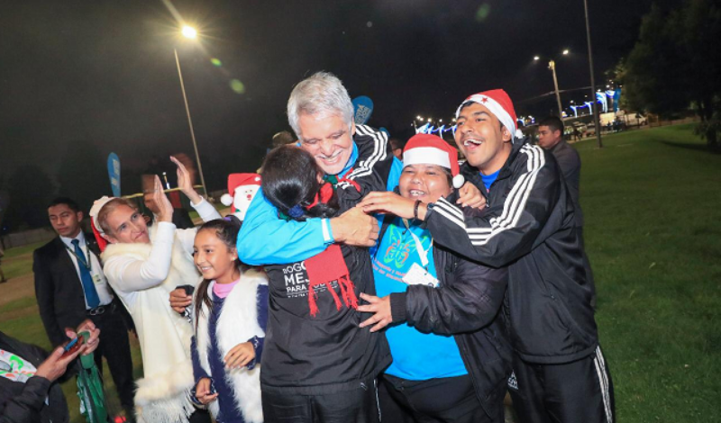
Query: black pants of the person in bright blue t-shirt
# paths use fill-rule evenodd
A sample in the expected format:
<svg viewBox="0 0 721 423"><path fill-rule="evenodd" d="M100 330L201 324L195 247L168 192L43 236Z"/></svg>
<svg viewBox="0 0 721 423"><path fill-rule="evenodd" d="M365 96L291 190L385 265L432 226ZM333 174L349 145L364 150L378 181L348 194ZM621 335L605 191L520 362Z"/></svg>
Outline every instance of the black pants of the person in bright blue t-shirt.
<svg viewBox="0 0 721 423"><path fill-rule="evenodd" d="M390 423L502 423L503 403L496 419L480 405L468 374L427 381L408 381L384 374L379 387L380 415Z"/></svg>

